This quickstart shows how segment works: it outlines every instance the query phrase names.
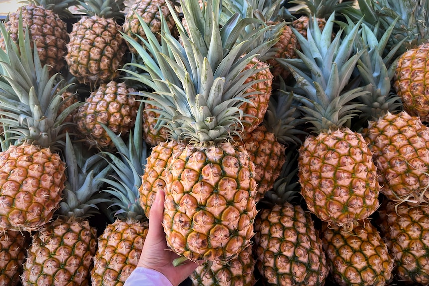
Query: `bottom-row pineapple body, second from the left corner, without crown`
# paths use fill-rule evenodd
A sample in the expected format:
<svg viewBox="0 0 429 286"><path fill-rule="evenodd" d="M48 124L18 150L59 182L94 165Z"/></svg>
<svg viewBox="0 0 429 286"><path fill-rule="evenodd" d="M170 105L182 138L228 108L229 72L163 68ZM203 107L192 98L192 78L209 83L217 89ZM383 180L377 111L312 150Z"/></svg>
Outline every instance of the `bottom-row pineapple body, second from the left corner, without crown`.
<svg viewBox="0 0 429 286"><path fill-rule="evenodd" d="M89 285L96 245L96 230L88 220L54 220L33 235L22 285Z"/></svg>

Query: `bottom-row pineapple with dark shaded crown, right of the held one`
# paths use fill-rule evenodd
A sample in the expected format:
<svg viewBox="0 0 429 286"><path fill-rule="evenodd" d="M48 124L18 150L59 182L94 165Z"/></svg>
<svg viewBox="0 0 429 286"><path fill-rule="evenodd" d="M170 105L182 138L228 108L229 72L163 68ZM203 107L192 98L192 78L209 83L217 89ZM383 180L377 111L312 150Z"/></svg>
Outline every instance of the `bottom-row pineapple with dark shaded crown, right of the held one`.
<svg viewBox="0 0 429 286"><path fill-rule="evenodd" d="M299 196L294 151L287 152L279 179L259 202L256 266L267 285L322 286L329 268L310 213L294 201Z"/></svg>

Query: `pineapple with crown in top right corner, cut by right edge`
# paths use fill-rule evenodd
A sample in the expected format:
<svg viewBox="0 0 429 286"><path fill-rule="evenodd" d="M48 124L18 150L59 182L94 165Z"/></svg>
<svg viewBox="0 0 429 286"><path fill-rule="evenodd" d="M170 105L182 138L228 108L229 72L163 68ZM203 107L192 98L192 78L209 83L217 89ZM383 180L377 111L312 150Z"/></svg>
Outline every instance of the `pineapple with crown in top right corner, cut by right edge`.
<svg viewBox="0 0 429 286"><path fill-rule="evenodd" d="M393 25L386 50L395 49L392 63L393 88L412 116L428 121L429 97L425 95L426 55L429 39L429 2L396 0L358 0L368 26L376 26L380 34ZM359 15L359 13L357 13ZM397 47L398 46L398 47Z"/></svg>

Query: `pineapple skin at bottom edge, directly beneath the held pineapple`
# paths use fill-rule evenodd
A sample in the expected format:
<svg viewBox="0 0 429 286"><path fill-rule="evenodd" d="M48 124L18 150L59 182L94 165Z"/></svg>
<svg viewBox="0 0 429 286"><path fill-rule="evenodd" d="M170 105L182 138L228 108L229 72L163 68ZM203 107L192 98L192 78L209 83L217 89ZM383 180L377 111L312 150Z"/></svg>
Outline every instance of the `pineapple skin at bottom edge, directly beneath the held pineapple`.
<svg viewBox="0 0 429 286"><path fill-rule="evenodd" d="M256 260L253 257L252 245L227 263L214 261L212 265L202 265L190 275L194 286L253 286Z"/></svg>

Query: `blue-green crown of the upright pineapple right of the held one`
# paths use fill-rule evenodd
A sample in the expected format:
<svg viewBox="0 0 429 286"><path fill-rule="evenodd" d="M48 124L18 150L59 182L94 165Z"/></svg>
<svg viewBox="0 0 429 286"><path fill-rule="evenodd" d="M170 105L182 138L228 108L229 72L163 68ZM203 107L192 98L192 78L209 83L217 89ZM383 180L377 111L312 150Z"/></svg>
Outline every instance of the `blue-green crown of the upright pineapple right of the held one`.
<svg viewBox="0 0 429 286"><path fill-rule="evenodd" d="M307 39L293 29L303 52L296 51L299 59L278 59L289 68L296 85L304 95L295 94L302 104L300 110L304 119L313 124L313 131L338 129L356 115L361 104L349 104L351 100L365 94L362 88L343 91L348 84L359 57L363 51L352 56L353 43L358 34L359 21L341 39L343 29L332 40L335 13L326 21L321 32L315 17L307 29Z"/></svg>

